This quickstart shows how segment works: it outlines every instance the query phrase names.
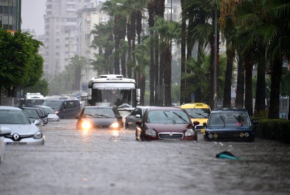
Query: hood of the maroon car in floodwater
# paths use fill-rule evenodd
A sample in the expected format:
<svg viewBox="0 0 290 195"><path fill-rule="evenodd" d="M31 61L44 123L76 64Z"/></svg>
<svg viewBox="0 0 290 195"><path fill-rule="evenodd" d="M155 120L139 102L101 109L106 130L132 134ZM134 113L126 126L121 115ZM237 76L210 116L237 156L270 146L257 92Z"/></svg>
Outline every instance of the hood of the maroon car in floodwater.
<svg viewBox="0 0 290 195"><path fill-rule="evenodd" d="M157 133L162 132L180 132L185 133L187 129L192 129L190 124L163 124L163 123L145 123L148 129L153 129Z"/></svg>

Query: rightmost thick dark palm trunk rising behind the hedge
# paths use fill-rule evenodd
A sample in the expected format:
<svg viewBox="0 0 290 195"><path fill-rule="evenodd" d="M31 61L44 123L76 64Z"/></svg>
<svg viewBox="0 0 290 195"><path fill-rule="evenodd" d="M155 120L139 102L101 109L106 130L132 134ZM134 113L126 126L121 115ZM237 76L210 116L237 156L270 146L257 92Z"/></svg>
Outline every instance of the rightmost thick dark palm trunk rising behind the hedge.
<svg viewBox="0 0 290 195"><path fill-rule="evenodd" d="M282 74L282 59L275 59L271 64L271 92L270 92L270 105L269 105L269 119L279 119L280 108L280 81Z"/></svg>

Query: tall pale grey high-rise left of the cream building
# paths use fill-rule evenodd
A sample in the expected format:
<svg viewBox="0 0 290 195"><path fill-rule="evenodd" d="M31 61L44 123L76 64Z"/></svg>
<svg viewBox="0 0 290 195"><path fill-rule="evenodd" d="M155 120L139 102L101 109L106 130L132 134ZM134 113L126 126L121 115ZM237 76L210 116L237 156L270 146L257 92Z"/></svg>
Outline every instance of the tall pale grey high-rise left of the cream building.
<svg viewBox="0 0 290 195"><path fill-rule="evenodd" d="M90 0L47 0L44 15L45 20L45 55L44 71L46 74L56 74L61 71L61 46L63 26L76 24L76 11ZM64 37L66 38L66 37ZM65 59L64 59L65 60Z"/></svg>

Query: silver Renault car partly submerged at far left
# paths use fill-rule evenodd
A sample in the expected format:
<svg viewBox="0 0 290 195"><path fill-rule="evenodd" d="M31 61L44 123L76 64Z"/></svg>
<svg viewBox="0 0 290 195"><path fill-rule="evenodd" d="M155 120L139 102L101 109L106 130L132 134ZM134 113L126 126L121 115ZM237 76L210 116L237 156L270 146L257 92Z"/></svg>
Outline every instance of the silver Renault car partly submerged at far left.
<svg viewBox="0 0 290 195"><path fill-rule="evenodd" d="M42 132L36 126L38 124L38 120L33 124L20 108L0 106L1 128L11 131L4 136L6 145L43 145Z"/></svg>

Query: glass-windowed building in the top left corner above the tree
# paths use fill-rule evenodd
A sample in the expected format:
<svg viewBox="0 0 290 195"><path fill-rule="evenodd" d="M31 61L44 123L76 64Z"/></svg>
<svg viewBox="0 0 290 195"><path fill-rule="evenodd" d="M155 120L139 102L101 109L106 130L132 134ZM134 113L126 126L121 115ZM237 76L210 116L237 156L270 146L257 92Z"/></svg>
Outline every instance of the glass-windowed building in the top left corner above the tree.
<svg viewBox="0 0 290 195"><path fill-rule="evenodd" d="M0 1L0 26L11 33L21 29L21 0Z"/></svg>

